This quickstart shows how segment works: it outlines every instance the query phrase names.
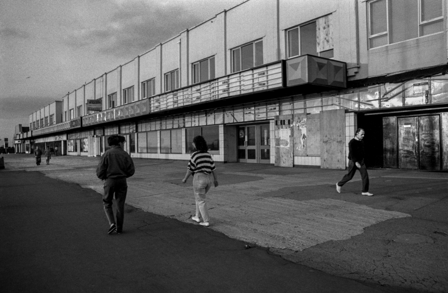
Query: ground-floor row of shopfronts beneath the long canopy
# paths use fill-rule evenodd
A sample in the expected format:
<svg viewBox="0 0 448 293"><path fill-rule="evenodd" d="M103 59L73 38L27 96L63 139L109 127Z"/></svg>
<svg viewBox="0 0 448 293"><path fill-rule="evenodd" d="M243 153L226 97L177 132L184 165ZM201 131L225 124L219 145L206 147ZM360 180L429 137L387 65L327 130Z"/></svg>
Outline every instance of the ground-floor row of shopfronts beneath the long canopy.
<svg viewBox="0 0 448 293"><path fill-rule="evenodd" d="M275 115L279 112L273 110L262 119L238 122L244 108L241 113L223 109L204 110L204 115L199 111L189 119L178 115L117 122L36 138L26 142L26 150L58 146L63 155L100 156L109 148L107 137L120 134L126 138L124 150L132 157L188 160L194 151L193 138L202 135L216 162L345 169L348 143L361 127L366 131L368 167L448 170L446 105L290 113Z"/></svg>

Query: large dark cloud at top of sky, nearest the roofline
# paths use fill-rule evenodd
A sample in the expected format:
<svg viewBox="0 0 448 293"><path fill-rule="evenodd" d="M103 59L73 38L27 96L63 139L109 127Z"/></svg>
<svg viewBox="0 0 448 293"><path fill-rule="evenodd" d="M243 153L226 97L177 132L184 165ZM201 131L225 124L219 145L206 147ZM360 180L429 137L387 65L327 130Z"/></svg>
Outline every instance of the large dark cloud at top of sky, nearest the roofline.
<svg viewBox="0 0 448 293"><path fill-rule="evenodd" d="M79 27L67 36L66 44L75 49L91 47L101 54L133 58L204 21L182 6L130 1L114 8L107 24Z"/></svg>

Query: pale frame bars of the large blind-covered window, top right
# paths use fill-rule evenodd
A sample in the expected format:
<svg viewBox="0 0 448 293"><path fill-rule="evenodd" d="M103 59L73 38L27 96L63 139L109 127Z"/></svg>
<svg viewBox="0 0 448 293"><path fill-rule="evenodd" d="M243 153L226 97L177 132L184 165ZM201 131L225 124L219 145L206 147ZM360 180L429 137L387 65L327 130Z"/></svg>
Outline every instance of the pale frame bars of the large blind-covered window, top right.
<svg viewBox="0 0 448 293"><path fill-rule="evenodd" d="M372 21L372 19L371 19L371 4L372 3L375 3L375 2L378 2L378 1L386 1L386 20L387 20L387 28L386 28L386 32L381 32L381 33L376 33L376 34L373 34L373 35L370 35L370 32L371 32L371 21ZM422 37L425 37L425 36L429 36L429 35L433 35L433 34L439 34L439 33L443 33L444 32L444 30L442 30L442 31L439 31L439 32L435 32L435 33L432 33L432 34L429 34L429 35L423 35L423 32L422 32L422 27L423 27L423 25L426 25L426 24L429 24L429 23L435 23L435 22L437 22L437 21L443 21L444 20L444 17L445 17L445 15L444 15L444 1L442 1L442 16L440 16L440 17L436 17L436 18L433 18L433 19L430 19L430 20L428 20L428 21L422 21L422 5L423 5L423 0L414 0L414 1L417 1L418 3L417 3L417 5L418 5L418 20L417 20L417 22L418 22L418 28L417 28L417 31L418 31L418 37L417 38L412 38L412 39L407 39L407 40L403 40L403 41L400 41L400 42L406 42L406 41L409 41L409 40L414 40L414 39L418 39L418 38L422 38ZM399 42L391 42L391 40L390 40L390 33L391 33L391 27L390 27L390 21L391 21L391 15L390 15L390 0L370 0L370 1L368 1L367 2L367 46L368 46L368 49L370 50L370 49L374 49L374 48L379 48L379 47L383 47L383 46L388 46L388 45L391 45L391 44L395 44L395 43L399 43ZM377 38L377 37L380 37L380 36L384 36L384 35L387 35L387 44L385 44L385 45L379 45L379 46L375 46L375 47L372 47L371 46L371 40L372 39L374 39L374 38Z"/></svg>

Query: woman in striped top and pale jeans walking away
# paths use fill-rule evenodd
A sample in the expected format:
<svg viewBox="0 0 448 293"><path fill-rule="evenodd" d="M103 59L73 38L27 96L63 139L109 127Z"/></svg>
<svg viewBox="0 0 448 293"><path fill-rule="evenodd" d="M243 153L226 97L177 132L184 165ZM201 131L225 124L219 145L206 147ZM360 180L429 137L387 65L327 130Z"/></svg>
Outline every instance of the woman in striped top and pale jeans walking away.
<svg viewBox="0 0 448 293"><path fill-rule="evenodd" d="M214 171L216 167L214 167L212 156L207 152L207 143L202 136L198 135L193 139L193 146L196 151L192 154L190 162L188 162L187 174L185 174L185 178L182 179L182 183L187 182L188 177L193 175L196 214L192 217L192 220L198 222L199 225L208 227L210 226L210 223L205 194L212 187L212 175L214 187L218 186L218 178Z"/></svg>

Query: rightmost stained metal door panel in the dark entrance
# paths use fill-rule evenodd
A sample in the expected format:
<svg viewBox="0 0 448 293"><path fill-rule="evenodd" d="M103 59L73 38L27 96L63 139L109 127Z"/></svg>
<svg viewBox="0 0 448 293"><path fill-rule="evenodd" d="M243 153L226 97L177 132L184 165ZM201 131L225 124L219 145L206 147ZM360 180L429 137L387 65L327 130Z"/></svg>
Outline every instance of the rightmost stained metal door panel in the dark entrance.
<svg viewBox="0 0 448 293"><path fill-rule="evenodd" d="M440 170L440 116L419 118L420 169Z"/></svg>

